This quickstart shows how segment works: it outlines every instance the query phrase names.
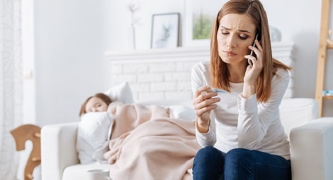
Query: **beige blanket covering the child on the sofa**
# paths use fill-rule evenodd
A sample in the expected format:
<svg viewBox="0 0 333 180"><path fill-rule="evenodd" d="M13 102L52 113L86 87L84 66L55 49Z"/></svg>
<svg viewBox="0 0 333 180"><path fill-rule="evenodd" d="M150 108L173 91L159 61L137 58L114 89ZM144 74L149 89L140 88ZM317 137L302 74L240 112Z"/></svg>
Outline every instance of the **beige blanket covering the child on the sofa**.
<svg viewBox="0 0 333 180"><path fill-rule="evenodd" d="M113 133L104 157L113 180L192 179L193 158L200 149L194 121L170 119L169 109L140 104L113 109Z"/></svg>

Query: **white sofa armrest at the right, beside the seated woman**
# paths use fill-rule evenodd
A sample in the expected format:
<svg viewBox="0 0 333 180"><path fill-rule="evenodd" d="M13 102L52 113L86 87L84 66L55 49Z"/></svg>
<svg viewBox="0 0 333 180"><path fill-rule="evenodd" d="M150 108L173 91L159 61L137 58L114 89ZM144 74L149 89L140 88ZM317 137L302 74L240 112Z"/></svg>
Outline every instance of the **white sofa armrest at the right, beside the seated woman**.
<svg viewBox="0 0 333 180"><path fill-rule="evenodd" d="M290 155L293 180L333 179L333 118L293 128Z"/></svg>

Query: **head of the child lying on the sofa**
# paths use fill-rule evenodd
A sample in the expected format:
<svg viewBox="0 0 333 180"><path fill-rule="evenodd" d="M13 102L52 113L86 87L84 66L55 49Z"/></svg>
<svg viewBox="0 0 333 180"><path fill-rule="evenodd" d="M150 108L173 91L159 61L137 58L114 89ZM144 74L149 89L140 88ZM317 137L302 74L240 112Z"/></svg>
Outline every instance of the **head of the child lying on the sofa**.
<svg viewBox="0 0 333 180"><path fill-rule="evenodd" d="M79 116L86 114L87 112L106 112L108 104L112 101L108 95L103 93L97 93L94 96L88 97L84 104L81 105Z"/></svg>

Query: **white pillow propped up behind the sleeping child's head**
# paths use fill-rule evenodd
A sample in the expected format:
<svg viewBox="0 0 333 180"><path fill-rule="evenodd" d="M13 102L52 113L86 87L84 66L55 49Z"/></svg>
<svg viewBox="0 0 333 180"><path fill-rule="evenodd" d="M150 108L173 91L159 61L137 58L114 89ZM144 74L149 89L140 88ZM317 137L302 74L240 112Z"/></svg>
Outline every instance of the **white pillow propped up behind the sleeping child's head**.
<svg viewBox="0 0 333 180"><path fill-rule="evenodd" d="M131 104L134 102L132 90L130 90L130 85L128 82L115 85L112 88L106 90L104 94L108 95L112 101L120 101L124 102L125 104Z"/></svg>

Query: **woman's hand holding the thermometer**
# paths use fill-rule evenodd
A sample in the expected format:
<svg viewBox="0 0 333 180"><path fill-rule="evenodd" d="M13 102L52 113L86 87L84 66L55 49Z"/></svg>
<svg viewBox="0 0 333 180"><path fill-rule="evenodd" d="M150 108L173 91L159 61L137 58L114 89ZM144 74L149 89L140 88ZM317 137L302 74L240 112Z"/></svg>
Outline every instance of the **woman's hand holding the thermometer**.
<svg viewBox="0 0 333 180"><path fill-rule="evenodd" d="M200 133L207 133L210 124L210 111L217 107L215 102L220 102L218 92L213 92L210 86L197 88L193 97L193 109L196 112L196 125Z"/></svg>

